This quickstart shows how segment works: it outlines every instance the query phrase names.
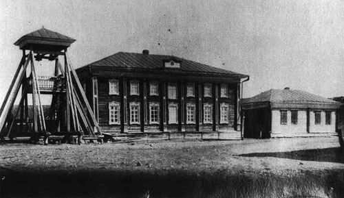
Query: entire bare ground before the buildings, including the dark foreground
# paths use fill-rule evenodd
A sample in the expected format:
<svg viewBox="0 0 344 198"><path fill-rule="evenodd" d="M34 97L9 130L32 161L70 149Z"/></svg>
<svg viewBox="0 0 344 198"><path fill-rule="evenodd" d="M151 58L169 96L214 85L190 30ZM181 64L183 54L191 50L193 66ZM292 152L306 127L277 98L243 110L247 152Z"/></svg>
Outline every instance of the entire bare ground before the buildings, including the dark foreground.
<svg viewBox="0 0 344 198"><path fill-rule="evenodd" d="M25 182L21 187L13 185L28 175L41 178L34 182L49 180L55 185L61 184L61 178L66 180L61 175L69 175L79 178L73 184L83 183L80 180L102 181L106 185L96 192L105 192L104 195L111 194L115 188L107 186L108 182L116 180L117 186L138 182L133 186L151 189L155 193L151 197L344 197L343 156L336 137L149 140L103 145L3 144L0 145L0 190L2 185L3 195L11 195L14 192L9 189L30 186ZM94 179L99 175L100 178ZM52 181L48 177L59 179ZM167 189L166 185L171 188ZM181 186L189 188L175 195L171 189ZM43 191L50 189L45 188ZM70 191L63 195L69 195Z"/></svg>

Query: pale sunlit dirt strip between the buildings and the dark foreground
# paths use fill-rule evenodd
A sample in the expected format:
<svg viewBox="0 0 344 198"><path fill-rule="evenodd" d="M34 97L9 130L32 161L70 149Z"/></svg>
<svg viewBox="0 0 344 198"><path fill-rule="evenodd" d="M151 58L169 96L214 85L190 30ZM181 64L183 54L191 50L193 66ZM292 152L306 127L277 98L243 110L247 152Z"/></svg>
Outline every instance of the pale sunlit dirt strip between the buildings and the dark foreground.
<svg viewBox="0 0 344 198"><path fill-rule="evenodd" d="M331 175L336 175L336 181L330 182L330 186L321 191L326 194L322 197L338 197L344 191L338 189L342 184L344 186L344 153L337 137L226 141L147 140L103 145L45 146L14 143L0 145L0 160L0 176L3 181L7 180L8 173L28 171L69 174L80 171L152 175L184 173L216 177L239 174L253 175L252 178L259 178L256 175L264 174L273 177L286 175L290 178L309 173L310 177L314 176L314 180L319 180L318 177L332 180ZM334 184L336 186L333 187ZM337 190L336 195L330 192L333 188Z"/></svg>

